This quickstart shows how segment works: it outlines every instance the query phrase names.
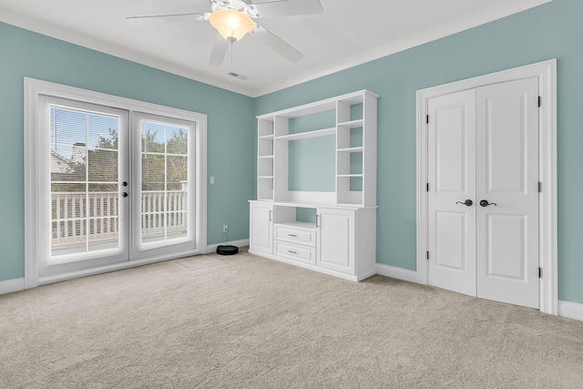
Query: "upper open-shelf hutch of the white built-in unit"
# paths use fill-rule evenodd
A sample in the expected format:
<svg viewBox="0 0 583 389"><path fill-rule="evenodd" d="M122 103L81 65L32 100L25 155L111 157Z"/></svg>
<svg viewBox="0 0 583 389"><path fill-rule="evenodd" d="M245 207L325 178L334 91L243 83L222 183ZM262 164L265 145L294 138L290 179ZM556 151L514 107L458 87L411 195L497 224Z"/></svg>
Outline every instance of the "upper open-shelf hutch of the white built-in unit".
<svg viewBox="0 0 583 389"><path fill-rule="evenodd" d="M257 117L258 198L331 206L376 206L376 100L376 95L362 90ZM296 155L292 152L298 150L296 145L292 148L292 141L330 136L335 138L334 171L325 174L335 176L335 188L290 190L290 159ZM328 141L322 139L323 143L318 144L329 144ZM314 166L314 171L322 171L317 168Z"/></svg>

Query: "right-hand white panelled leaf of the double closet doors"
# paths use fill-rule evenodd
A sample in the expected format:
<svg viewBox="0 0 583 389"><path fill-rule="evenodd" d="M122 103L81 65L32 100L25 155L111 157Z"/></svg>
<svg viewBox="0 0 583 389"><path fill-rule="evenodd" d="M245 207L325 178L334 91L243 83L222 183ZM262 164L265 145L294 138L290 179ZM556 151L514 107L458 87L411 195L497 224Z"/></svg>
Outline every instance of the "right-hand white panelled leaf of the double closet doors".
<svg viewBox="0 0 583 389"><path fill-rule="evenodd" d="M532 308L538 308L537 98L537 78L476 92L477 296Z"/></svg>

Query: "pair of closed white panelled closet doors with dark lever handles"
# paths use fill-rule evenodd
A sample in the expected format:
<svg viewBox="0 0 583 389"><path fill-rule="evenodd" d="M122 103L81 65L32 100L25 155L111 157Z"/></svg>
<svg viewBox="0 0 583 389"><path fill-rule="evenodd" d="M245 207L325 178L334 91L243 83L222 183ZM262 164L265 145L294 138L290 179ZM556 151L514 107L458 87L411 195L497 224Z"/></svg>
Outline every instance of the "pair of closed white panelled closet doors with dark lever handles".
<svg viewBox="0 0 583 389"><path fill-rule="evenodd" d="M538 308L538 79L428 101L429 283Z"/></svg>

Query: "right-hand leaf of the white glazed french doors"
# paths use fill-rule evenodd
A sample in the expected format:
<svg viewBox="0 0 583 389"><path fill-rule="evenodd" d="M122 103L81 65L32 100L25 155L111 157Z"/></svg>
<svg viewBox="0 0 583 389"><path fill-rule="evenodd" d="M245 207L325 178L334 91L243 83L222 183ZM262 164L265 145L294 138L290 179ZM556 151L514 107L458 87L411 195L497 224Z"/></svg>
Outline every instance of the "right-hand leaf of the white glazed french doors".
<svg viewBox="0 0 583 389"><path fill-rule="evenodd" d="M132 114L132 260L195 248L196 123Z"/></svg>

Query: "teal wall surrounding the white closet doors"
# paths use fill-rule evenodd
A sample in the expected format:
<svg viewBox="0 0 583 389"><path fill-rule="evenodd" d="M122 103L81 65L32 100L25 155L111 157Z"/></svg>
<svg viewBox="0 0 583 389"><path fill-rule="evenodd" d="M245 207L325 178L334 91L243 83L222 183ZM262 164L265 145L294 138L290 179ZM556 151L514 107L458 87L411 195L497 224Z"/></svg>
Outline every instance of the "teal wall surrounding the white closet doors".
<svg viewBox="0 0 583 389"><path fill-rule="evenodd" d="M484 26L259 97L255 114L360 89L380 95L377 261L415 270L415 92L557 58L558 297L583 303L583 1L555 0ZM569 179L570 178L570 179Z"/></svg>

